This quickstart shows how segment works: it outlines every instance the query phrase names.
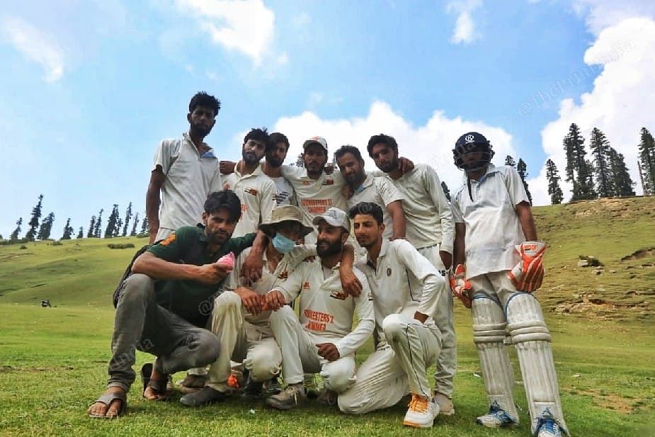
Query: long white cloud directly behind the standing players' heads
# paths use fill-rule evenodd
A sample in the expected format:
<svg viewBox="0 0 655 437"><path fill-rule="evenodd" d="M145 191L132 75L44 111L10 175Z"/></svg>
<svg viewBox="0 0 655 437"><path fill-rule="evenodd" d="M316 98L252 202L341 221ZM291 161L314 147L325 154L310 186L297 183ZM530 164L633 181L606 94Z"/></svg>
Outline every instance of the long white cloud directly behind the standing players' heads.
<svg viewBox="0 0 655 437"><path fill-rule="evenodd" d="M376 169L366 152L368 139L380 132L392 135L399 144L402 156L433 166L452 192L462 183L462 172L452 163L452 147L460 135L471 130L484 132L494 143L495 163L502 164L508 154L516 156L511 135L500 127L462 120L460 117L447 118L440 110L435 111L425 125L415 127L388 103L381 101L372 103L364 118L321 119L315 113L306 111L278 119L272 131L283 132L289 137L291 147L287 163L294 162L302 152L304 140L320 135L328 142L330 157L343 144L358 147L368 170Z"/></svg>

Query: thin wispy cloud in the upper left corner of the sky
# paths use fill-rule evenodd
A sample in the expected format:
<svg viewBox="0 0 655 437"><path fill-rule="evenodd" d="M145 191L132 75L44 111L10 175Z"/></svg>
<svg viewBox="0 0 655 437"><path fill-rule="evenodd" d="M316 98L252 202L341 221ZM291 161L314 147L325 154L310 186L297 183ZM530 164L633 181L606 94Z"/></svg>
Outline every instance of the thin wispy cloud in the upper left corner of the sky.
<svg viewBox="0 0 655 437"><path fill-rule="evenodd" d="M55 82L64 74L64 52L49 35L21 18L6 17L1 21L2 37L32 62L40 64L43 79Z"/></svg>

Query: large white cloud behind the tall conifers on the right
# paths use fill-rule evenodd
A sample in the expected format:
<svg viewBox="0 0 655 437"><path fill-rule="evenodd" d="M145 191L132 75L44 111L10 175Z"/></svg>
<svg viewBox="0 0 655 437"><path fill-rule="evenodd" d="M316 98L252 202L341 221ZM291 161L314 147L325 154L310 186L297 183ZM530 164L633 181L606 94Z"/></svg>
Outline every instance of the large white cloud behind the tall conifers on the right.
<svg viewBox="0 0 655 437"><path fill-rule="evenodd" d="M655 130L651 116L655 101L655 20L629 18L601 30L593 45L584 55L588 65L599 64L602 72L593 81L593 90L584 93L577 104L564 99L559 106L559 118L542 130L542 147L564 177L566 158L562 139L571 123L581 128L588 137L593 127L605 132L612 147L625 155L632 180L637 182L637 144L639 130ZM545 169L535 180L528 181L537 205L549 203ZM534 182L534 183L532 183ZM535 187L532 189L532 187ZM562 184L566 198L570 186Z"/></svg>

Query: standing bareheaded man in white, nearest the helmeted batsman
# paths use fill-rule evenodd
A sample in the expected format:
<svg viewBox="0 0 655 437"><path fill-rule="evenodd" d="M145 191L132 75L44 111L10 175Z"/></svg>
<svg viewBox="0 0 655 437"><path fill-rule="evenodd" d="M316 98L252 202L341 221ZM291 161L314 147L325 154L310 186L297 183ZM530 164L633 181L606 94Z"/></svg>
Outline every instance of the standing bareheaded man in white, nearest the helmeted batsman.
<svg viewBox="0 0 655 437"><path fill-rule="evenodd" d="M398 144L394 137L380 134L370 137L367 145L375 165L387 174L403 193L407 221L407 239L445 276L452 265L452 240L455 225L439 176L431 166L416 164L403 174L398 169ZM452 295L446 293L438 307L435 324L441 331L441 353L436 362L433 401L439 414L455 414L452 405L452 383L457 369L457 341L452 317Z"/></svg>

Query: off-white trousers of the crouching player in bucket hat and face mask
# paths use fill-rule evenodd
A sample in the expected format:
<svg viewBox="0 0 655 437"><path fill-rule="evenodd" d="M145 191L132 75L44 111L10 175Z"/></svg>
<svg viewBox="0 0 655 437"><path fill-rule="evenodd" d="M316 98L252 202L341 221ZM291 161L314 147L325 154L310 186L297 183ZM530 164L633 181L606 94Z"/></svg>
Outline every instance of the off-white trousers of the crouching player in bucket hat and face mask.
<svg viewBox="0 0 655 437"><path fill-rule="evenodd" d="M244 320L241 297L224 291L214 300L212 332L220 341L218 358L210 365L207 385L227 392L230 358L250 371L251 378L263 381L280 373L282 354L269 327L260 327Z"/></svg>

